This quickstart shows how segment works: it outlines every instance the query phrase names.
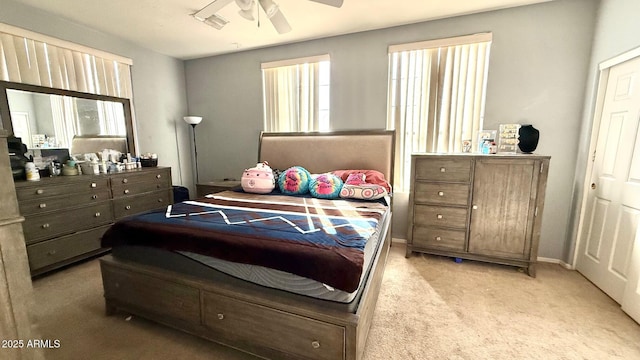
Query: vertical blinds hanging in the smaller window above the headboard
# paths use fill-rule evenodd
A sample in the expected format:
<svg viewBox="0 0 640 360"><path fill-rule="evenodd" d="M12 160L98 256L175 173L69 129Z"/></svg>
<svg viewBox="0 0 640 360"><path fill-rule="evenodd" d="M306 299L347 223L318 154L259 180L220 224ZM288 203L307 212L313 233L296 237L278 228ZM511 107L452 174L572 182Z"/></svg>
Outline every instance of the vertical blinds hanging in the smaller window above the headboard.
<svg viewBox="0 0 640 360"><path fill-rule="evenodd" d="M262 69L264 129L320 130L320 62Z"/></svg>

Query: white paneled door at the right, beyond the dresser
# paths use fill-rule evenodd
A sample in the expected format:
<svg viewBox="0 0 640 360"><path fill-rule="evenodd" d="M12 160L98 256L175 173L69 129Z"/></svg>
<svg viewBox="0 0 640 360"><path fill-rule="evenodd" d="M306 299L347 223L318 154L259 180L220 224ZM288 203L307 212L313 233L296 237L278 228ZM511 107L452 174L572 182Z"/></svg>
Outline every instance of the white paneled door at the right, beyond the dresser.
<svg viewBox="0 0 640 360"><path fill-rule="evenodd" d="M620 303L628 287L638 287L629 276L638 261L640 58L610 68L601 109L576 267Z"/></svg>

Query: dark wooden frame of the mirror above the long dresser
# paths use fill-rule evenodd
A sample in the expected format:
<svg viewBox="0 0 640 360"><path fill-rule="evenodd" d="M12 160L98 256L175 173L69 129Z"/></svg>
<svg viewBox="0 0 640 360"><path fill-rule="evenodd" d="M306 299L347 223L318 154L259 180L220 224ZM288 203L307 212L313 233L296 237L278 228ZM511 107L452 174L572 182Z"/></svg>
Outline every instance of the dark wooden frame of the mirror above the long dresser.
<svg viewBox="0 0 640 360"><path fill-rule="evenodd" d="M125 126L127 128L128 152L131 154L138 153L135 146L135 139L133 135L133 117L131 115L131 101L129 99L119 98L114 96L89 94L89 93L83 93L83 92L72 91L72 90L54 89L54 88L49 88L45 86L0 80L0 119L2 119L2 128L9 130L11 134L13 134L13 122L11 119L11 111L9 109L9 99L7 97L7 90L9 89L30 91L34 93L40 93L40 94L71 96L71 97L77 97L77 98L89 99L89 100L119 102L123 105L123 108L124 108L124 121L125 121Z"/></svg>

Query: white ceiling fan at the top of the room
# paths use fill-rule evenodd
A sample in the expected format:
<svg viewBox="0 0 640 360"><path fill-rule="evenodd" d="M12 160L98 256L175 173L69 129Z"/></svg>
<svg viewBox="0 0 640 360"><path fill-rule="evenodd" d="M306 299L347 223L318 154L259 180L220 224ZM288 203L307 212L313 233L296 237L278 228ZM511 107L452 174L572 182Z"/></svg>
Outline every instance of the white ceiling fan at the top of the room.
<svg viewBox="0 0 640 360"><path fill-rule="evenodd" d="M256 5L256 0L214 0L209 5L200 9L198 12L193 14L192 16L209 26L213 26L214 28L220 30L222 29L229 20L223 18L218 15L217 12L220 11L223 7L229 5L234 2L238 5L240 10L238 13L243 18L253 21L255 20L255 13L258 11L258 6ZM309 0L333 7L341 7L344 0ZM291 31L291 26L289 22L284 17L282 10L278 4L276 4L273 0L257 0L257 3L260 4L260 7L267 15L267 18L273 24L273 27L279 34L288 33ZM259 26L258 22L258 26Z"/></svg>

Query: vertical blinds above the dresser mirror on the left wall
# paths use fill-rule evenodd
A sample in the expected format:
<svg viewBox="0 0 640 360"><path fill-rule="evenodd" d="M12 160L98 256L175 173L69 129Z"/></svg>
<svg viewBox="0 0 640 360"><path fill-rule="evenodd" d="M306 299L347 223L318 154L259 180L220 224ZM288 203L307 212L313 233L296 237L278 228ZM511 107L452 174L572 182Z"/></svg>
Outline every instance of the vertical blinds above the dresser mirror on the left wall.
<svg viewBox="0 0 640 360"><path fill-rule="evenodd" d="M131 60L0 25L0 80L132 98Z"/></svg>

